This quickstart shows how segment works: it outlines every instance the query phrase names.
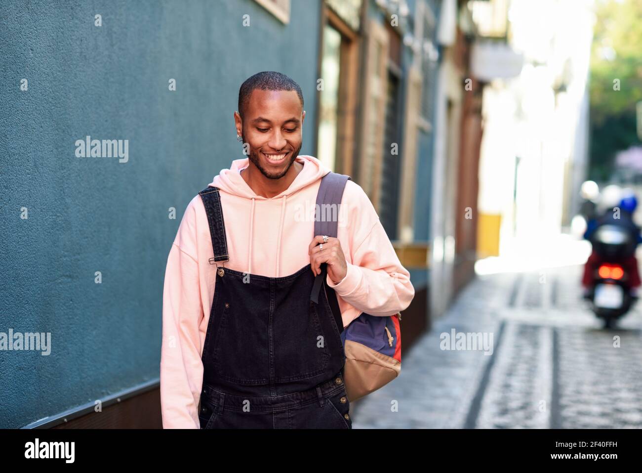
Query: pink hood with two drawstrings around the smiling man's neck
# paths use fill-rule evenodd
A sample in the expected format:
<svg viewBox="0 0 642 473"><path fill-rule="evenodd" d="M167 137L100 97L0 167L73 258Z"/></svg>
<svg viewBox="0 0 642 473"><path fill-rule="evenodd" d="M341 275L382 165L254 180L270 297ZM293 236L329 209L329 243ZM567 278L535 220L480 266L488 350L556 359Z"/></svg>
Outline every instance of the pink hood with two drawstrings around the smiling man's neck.
<svg viewBox="0 0 642 473"><path fill-rule="evenodd" d="M248 186L243 177L241 176L241 171L247 168L250 165L250 159L245 157L243 159L235 159L232 161L232 165L229 169L223 169L221 172L214 176L214 180L209 184L209 187L216 187L238 197L243 197L245 199L252 199L252 206L250 210L250 222L248 228L250 229L250 244L248 245L248 269L247 273L252 274L252 239L254 236L254 208L256 201L281 201L281 213L279 217L279 236L277 238L277 251L276 251L276 274L279 274L279 264L281 263L281 237L283 231L283 222L284 222L284 213L286 208L286 202L288 197L292 197L295 193L299 192L301 189L306 188L307 186L316 183L319 179L324 177L325 174L329 173L331 170L327 166L323 165L314 156L299 155L297 156L296 161L299 161L303 165L302 170L299 172L294 181L290 184L283 192L274 197L263 197L262 195L257 195L254 193L252 188Z"/></svg>

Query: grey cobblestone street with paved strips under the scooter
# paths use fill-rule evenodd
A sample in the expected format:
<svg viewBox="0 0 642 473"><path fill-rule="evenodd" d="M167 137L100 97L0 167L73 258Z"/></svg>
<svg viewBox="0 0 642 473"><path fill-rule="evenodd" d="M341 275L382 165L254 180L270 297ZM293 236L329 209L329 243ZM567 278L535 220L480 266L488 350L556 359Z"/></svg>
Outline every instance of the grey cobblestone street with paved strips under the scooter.
<svg viewBox="0 0 642 473"><path fill-rule="evenodd" d="M580 298L581 271L477 276L404 355L399 378L354 403L353 427L642 427L641 305L603 330ZM492 354L442 350L453 328L492 332Z"/></svg>

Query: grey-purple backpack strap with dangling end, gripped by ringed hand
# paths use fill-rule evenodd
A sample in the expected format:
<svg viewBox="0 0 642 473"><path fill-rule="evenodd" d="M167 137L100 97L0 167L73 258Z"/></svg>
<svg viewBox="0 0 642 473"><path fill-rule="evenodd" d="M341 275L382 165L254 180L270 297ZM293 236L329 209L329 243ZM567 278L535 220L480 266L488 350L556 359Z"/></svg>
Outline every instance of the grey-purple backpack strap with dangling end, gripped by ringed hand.
<svg viewBox="0 0 642 473"><path fill-rule="evenodd" d="M317 193L317 206L315 207L315 236L327 235L328 237L336 238L338 234L338 219L339 208L341 199L343 197L343 190L345 190L345 183L351 179L349 175L338 174L336 172L329 172L321 178L321 184ZM333 205L329 211L326 211L327 205ZM336 209L336 212L333 211ZM322 217L331 215L336 216L336 219L323 219ZM321 264L321 272L315 278L310 294L310 300L318 304L319 292L323 286L328 303L332 310L334 321L339 329L339 333L343 332L343 319L341 318L341 311L339 303L334 294L334 289L327 285L325 278L327 276L327 263Z"/></svg>

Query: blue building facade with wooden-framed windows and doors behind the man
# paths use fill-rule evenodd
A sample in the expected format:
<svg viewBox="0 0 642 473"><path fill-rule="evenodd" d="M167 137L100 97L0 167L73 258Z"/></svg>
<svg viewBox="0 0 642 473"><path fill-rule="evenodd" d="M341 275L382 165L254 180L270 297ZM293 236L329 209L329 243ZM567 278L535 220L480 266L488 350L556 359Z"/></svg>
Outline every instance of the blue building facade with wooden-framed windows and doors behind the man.
<svg viewBox="0 0 642 473"><path fill-rule="evenodd" d="M474 276L483 84L471 72L469 2L213 8L202 0L100 12L82 2L73 12L33 3L24 12L10 0L16 28L0 32L10 58L4 73L30 82L28 93L0 96L10 137L0 146L14 177L3 180L6 209L33 208L27 223L36 224L7 220L13 253L3 254L0 286L10 323L38 314L68 349L47 363L31 360L33 370L8 359L0 427L160 427L168 242L195 192L241 157L232 113L239 85L259 71L300 84L309 117L301 153L360 184L410 271L404 351ZM24 33L31 30L40 34ZM70 154L69 143L89 134L130 139L129 165ZM29 254L38 262L26 264ZM20 299L27 286L31 296ZM15 386L55 394L43 402L42 389Z"/></svg>

